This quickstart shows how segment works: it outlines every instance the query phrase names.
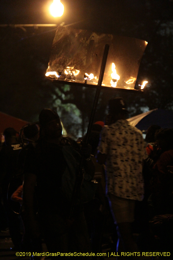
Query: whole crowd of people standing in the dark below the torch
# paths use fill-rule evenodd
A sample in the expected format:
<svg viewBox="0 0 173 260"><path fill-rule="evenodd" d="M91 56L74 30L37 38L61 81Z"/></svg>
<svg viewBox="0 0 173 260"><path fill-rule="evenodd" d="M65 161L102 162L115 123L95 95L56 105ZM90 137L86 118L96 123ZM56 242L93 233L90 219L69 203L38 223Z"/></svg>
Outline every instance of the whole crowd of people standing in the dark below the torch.
<svg viewBox="0 0 173 260"><path fill-rule="evenodd" d="M93 124L88 143L85 136L63 136L51 109L20 138L5 129L0 230L9 228L12 250L42 252L44 239L49 252L62 253L52 259L69 259L68 252L101 259L91 252L103 248L119 255L170 252L173 259L173 129L152 125L144 140L126 120L123 98L110 99L108 107L105 124Z"/></svg>

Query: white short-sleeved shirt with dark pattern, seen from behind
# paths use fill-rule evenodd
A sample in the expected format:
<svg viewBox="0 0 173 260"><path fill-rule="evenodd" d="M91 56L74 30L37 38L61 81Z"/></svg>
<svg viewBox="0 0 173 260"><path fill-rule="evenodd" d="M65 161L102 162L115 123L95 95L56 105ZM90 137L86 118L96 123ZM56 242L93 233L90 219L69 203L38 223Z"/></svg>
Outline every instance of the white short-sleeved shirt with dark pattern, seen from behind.
<svg viewBox="0 0 173 260"><path fill-rule="evenodd" d="M127 120L105 126L98 147L107 155L108 192L133 200L144 197L142 160L147 157L141 131Z"/></svg>

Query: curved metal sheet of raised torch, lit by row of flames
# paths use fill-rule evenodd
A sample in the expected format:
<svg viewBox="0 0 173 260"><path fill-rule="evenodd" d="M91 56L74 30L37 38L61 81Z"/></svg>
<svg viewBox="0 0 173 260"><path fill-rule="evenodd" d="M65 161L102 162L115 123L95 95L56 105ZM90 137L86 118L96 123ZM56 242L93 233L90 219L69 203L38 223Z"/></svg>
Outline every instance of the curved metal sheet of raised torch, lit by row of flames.
<svg viewBox="0 0 173 260"><path fill-rule="evenodd" d="M72 27L57 28L46 76L96 86L106 44L110 48L102 86L134 89L147 42Z"/></svg>

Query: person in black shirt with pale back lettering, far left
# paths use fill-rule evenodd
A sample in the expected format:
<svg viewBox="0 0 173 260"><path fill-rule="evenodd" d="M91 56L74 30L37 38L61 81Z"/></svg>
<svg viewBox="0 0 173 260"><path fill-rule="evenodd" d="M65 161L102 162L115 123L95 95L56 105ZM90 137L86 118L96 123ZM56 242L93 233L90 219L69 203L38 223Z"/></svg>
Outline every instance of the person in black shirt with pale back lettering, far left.
<svg viewBox="0 0 173 260"><path fill-rule="evenodd" d="M15 182L13 183L14 187L9 187L9 184L17 174L18 155L22 147L16 138L16 131L13 128L9 127L5 129L3 134L5 136L5 146L3 146L0 152L2 198L3 205L7 212L10 236L14 244L14 250L18 250L22 239L22 235L20 234L20 219L11 209L9 205L11 196L7 198L7 193L8 190L16 190L17 188L15 187Z"/></svg>

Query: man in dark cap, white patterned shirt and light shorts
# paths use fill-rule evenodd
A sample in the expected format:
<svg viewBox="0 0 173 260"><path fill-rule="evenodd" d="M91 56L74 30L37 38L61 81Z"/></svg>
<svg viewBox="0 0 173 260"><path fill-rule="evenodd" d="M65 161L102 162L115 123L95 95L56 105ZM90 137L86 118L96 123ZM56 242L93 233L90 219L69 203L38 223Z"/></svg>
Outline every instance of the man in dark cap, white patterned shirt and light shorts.
<svg viewBox="0 0 173 260"><path fill-rule="evenodd" d="M102 130L98 147L98 162L106 162L107 192L118 224L119 252L139 252L133 241L131 222L134 221L135 201L141 201L144 196L142 159L146 152L140 130L125 120L126 114L122 98L109 100L107 125Z"/></svg>

